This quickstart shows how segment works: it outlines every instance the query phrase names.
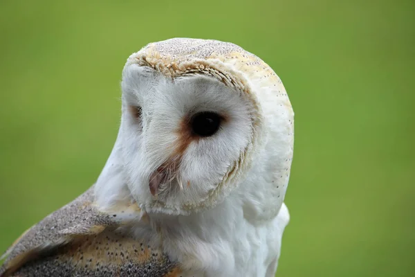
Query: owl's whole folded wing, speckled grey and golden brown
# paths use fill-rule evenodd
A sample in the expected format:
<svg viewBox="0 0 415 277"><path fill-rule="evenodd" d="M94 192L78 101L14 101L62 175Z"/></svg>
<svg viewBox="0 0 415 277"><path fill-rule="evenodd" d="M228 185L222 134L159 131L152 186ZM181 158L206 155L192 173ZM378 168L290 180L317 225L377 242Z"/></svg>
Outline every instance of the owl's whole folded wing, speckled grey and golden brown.
<svg viewBox="0 0 415 277"><path fill-rule="evenodd" d="M90 188L21 235L2 257L0 277L180 274L160 248L133 238L115 217L98 211Z"/></svg>

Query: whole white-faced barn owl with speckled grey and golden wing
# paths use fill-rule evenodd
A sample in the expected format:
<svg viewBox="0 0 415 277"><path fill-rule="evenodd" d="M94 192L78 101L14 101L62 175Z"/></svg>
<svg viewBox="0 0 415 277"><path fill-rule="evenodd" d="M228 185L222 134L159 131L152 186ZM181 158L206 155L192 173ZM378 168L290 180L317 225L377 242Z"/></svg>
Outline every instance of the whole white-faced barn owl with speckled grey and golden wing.
<svg viewBox="0 0 415 277"><path fill-rule="evenodd" d="M0 276L274 276L293 109L259 57L167 39L128 59L96 183L28 229Z"/></svg>

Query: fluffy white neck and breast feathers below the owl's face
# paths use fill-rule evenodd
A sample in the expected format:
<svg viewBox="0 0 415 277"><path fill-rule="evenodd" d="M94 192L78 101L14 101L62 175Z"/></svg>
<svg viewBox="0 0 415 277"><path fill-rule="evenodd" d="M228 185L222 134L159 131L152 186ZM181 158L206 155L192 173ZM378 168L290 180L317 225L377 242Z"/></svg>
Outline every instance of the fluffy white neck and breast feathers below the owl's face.
<svg viewBox="0 0 415 277"><path fill-rule="evenodd" d="M265 276L261 271L264 265L266 276L274 274L273 262L279 257L288 210L282 204L270 217L260 204L265 195L255 193L254 188L258 191L261 184L250 181L240 184L214 208L200 213L147 217L169 258L190 270L191 274L185 276ZM142 238L143 230L136 227L138 238Z"/></svg>

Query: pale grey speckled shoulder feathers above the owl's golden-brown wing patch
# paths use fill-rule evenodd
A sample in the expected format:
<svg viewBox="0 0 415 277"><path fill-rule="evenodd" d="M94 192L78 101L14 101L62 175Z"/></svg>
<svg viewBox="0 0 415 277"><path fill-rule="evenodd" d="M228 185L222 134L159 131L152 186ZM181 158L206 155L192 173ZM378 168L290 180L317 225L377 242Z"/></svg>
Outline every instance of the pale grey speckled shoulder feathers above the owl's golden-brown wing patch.
<svg viewBox="0 0 415 277"><path fill-rule="evenodd" d="M0 267L0 276L10 276L26 262L48 255L63 244L102 231L97 225L112 226L109 215L93 204L93 186L73 202L48 215L17 241Z"/></svg>

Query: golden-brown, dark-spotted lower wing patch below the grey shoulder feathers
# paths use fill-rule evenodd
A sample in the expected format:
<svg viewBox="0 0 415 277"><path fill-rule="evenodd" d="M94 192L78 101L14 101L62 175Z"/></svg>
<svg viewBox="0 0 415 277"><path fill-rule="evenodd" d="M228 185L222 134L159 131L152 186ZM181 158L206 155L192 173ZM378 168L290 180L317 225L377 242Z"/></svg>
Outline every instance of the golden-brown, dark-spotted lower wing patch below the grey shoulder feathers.
<svg viewBox="0 0 415 277"><path fill-rule="evenodd" d="M48 256L28 262L17 274L155 277L165 276L174 267L176 265L169 262L160 249L150 247L124 233L107 230L98 235L83 236L81 240L55 249Z"/></svg>

